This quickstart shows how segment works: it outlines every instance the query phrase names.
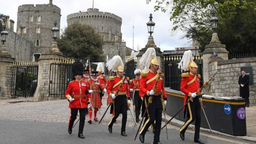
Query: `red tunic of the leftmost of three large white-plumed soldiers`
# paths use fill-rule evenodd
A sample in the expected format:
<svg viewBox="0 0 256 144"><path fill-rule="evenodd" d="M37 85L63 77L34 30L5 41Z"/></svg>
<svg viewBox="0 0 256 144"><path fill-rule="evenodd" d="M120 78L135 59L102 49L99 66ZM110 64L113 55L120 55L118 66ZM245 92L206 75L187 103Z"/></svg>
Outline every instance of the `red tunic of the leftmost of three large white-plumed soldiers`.
<svg viewBox="0 0 256 144"><path fill-rule="evenodd" d="M122 85L121 90L118 91L118 95L127 95L127 97L130 99L130 93L129 93L129 77L123 77L123 79L120 76L109 78L110 82L108 83L107 92L108 95L111 96L112 91L115 94L115 92L119 89L119 85L124 82Z"/></svg>

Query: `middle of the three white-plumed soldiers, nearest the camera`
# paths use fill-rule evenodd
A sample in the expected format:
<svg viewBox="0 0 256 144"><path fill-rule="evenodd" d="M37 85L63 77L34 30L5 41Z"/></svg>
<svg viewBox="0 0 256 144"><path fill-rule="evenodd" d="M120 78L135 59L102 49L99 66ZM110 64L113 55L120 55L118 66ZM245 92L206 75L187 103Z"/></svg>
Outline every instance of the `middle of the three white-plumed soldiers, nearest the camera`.
<svg viewBox="0 0 256 144"><path fill-rule="evenodd" d="M140 130L140 141L144 143L144 136L149 126L156 121L153 144L161 144L159 136L162 124L162 112L167 103L167 96L164 90L163 74L161 71L157 72L159 63L156 59L155 48L149 47L145 54L142 55L140 66L145 66L140 78L140 92L145 95L144 101L145 105L148 105L149 117Z"/></svg>

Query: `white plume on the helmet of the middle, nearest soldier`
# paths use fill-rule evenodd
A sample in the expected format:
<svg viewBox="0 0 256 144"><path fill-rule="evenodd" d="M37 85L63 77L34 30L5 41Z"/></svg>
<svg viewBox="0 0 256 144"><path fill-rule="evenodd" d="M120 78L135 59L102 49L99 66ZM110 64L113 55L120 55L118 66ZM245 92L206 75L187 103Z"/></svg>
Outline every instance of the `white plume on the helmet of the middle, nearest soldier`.
<svg viewBox="0 0 256 144"><path fill-rule="evenodd" d="M142 70L143 72L149 70L150 60L152 59L152 57L156 58L156 50L153 47L149 47L140 58L140 67L143 68L145 66L145 68Z"/></svg>

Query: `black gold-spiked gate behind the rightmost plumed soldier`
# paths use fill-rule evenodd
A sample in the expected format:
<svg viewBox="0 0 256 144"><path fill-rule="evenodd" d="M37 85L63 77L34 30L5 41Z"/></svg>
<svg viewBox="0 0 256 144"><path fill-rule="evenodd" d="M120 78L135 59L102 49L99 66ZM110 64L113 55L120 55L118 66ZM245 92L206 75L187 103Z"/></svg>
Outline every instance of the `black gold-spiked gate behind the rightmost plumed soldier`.
<svg viewBox="0 0 256 144"><path fill-rule="evenodd" d="M178 68L178 63L180 62L182 56L172 56L164 58L164 87L170 87L173 90L180 90L181 74L184 70ZM204 83L203 78L203 60L198 57L194 60L198 66L197 74L201 75L200 87Z"/></svg>

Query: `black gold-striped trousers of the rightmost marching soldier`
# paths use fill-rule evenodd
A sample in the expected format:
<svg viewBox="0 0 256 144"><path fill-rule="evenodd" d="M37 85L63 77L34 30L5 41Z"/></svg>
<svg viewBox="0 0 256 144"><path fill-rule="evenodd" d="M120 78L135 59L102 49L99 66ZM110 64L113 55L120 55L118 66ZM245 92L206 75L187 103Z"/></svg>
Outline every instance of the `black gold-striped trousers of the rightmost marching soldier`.
<svg viewBox="0 0 256 144"><path fill-rule="evenodd" d="M185 124L180 128L180 132L185 133L188 126L193 121L196 120L194 140L198 140L199 139L199 133L200 133L200 125L201 125L201 106L200 106L200 102L199 102L199 96L196 96L193 99L193 102L189 101L187 106L188 106L188 108L187 108L188 119L186 120Z"/></svg>

